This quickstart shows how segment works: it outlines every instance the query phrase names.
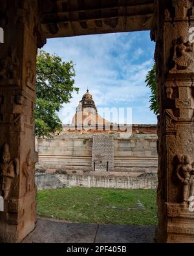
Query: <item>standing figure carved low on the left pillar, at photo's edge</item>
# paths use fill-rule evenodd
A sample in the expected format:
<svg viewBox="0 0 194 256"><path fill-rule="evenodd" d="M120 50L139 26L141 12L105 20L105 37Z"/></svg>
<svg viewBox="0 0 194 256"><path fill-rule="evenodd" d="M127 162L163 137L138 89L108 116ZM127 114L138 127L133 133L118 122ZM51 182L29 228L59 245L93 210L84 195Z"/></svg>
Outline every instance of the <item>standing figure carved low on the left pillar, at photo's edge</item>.
<svg viewBox="0 0 194 256"><path fill-rule="evenodd" d="M8 198L12 180L19 174L19 161L17 158L11 159L9 146L5 144L0 163L0 195L4 199Z"/></svg>

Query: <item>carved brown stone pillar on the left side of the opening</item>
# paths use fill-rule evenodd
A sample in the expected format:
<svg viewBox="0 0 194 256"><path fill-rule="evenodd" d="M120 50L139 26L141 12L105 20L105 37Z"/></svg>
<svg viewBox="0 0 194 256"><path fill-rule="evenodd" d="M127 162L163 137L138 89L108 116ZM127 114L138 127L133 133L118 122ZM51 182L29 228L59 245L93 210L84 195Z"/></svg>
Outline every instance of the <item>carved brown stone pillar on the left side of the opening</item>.
<svg viewBox="0 0 194 256"><path fill-rule="evenodd" d="M21 241L36 222L36 53L44 42L37 2L0 0L0 242Z"/></svg>

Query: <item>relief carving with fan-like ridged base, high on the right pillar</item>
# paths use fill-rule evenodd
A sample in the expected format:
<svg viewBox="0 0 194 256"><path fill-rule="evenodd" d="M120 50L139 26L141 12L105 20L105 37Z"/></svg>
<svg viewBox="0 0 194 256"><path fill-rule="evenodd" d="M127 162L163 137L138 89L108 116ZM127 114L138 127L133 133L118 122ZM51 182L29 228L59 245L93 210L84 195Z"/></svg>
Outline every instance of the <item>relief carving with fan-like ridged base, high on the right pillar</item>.
<svg viewBox="0 0 194 256"><path fill-rule="evenodd" d="M193 52L194 44L186 41L184 36L180 36L177 40L173 40L173 69L170 73L182 73L193 64L193 56L189 52Z"/></svg>

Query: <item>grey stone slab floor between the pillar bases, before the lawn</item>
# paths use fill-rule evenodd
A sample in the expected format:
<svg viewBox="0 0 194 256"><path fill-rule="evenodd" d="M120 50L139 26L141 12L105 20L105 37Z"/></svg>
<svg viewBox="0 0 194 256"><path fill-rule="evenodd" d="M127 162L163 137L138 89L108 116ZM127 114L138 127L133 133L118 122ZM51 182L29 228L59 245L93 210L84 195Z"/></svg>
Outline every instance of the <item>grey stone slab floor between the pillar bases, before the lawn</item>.
<svg viewBox="0 0 194 256"><path fill-rule="evenodd" d="M38 218L23 243L154 243L155 226L67 223Z"/></svg>

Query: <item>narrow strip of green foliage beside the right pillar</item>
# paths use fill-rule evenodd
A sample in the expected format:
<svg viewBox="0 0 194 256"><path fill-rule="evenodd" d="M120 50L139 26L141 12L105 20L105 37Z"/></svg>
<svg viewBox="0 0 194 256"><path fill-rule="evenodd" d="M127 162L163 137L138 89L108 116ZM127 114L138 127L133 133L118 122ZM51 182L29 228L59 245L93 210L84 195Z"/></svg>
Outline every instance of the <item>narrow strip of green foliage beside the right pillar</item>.
<svg viewBox="0 0 194 256"><path fill-rule="evenodd" d="M156 83L156 65L153 65L153 68L147 73L146 75L146 86L151 89L151 96L150 96L150 110L158 115L159 108L158 108L158 91L157 91L157 83Z"/></svg>

